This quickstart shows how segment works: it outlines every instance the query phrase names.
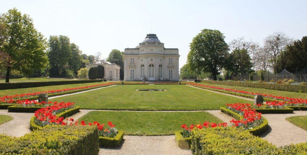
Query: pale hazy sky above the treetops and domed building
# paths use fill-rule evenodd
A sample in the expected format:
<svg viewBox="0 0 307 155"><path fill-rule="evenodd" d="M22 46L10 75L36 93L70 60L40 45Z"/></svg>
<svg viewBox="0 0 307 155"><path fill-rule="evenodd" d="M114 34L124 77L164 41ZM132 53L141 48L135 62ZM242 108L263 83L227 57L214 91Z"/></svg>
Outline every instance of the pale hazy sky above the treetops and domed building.
<svg viewBox="0 0 307 155"><path fill-rule="evenodd" d="M165 48L179 49L180 68L202 29L219 30L227 43L244 37L262 45L277 31L301 39L307 35L306 6L306 0L0 0L0 13L16 7L46 38L66 35L83 53L100 51L102 58L155 33Z"/></svg>

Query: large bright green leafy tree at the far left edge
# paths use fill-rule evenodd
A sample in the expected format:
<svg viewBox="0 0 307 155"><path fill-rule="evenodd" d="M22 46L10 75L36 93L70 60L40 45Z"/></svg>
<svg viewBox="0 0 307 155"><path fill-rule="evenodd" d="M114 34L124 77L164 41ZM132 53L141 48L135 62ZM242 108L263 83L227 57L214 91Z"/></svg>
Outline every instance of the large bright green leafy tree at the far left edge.
<svg viewBox="0 0 307 155"><path fill-rule="evenodd" d="M29 15L13 8L0 15L0 23L4 27L1 37L5 38L0 51L9 55L9 60L2 64L7 70L5 82L10 82L11 70L30 75L33 69L47 64L46 39L34 28Z"/></svg>

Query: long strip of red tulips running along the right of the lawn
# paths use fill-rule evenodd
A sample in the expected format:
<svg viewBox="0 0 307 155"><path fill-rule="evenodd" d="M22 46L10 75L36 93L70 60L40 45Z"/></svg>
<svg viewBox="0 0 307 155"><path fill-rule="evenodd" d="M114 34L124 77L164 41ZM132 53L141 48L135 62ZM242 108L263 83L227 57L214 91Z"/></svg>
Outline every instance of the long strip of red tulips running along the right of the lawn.
<svg viewBox="0 0 307 155"><path fill-rule="evenodd" d="M247 98L254 98L256 94L260 94L264 96L265 101L284 101L287 104L287 107L307 107L307 99L299 99L299 98L290 98L290 97L283 97L283 96L274 96L274 95L267 95L267 94L261 94L261 93L253 93L253 92L247 92L247 91L239 91L234 89L226 89L226 88L220 88L220 87L214 87L214 86L206 86L201 84L195 84L195 83L187 83L188 85L197 86L200 88L212 90L212 91L219 91L223 93L228 93L232 95L237 96L243 96Z"/></svg>

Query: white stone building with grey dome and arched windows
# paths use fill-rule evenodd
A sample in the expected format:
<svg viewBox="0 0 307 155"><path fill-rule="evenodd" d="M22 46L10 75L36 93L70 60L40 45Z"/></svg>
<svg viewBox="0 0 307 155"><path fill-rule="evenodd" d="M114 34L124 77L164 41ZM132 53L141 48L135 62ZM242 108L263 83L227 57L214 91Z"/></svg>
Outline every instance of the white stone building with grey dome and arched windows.
<svg viewBox="0 0 307 155"><path fill-rule="evenodd" d="M179 81L179 50L164 48L156 34L147 34L139 48L125 48L124 81Z"/></svg>

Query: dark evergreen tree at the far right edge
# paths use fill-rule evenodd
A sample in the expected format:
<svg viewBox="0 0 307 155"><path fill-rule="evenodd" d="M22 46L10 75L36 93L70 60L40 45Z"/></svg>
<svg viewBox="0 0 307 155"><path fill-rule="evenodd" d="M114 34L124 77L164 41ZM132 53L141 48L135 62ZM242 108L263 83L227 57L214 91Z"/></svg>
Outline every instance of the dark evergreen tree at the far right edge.
<svg viewBox="0 0 307 155"><path fill-rule="evenodd" d="M286 47L277 59L277 71L283 69L291 73L299 72L307 67L307 36Z"/></svg>

